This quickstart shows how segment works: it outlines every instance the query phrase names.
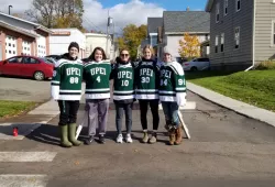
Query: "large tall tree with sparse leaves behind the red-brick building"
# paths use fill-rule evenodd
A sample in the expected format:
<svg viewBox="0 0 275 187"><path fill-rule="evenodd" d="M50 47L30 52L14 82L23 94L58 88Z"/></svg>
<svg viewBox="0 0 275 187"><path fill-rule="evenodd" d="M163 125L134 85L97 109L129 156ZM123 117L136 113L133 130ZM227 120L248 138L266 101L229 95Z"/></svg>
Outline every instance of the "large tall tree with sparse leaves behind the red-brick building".
<svg viewBox="0 0 275 187"><path fill-rule="evenodd" d="M33 0L25 12L46 28L82 28L82 0Z"/></svg>

